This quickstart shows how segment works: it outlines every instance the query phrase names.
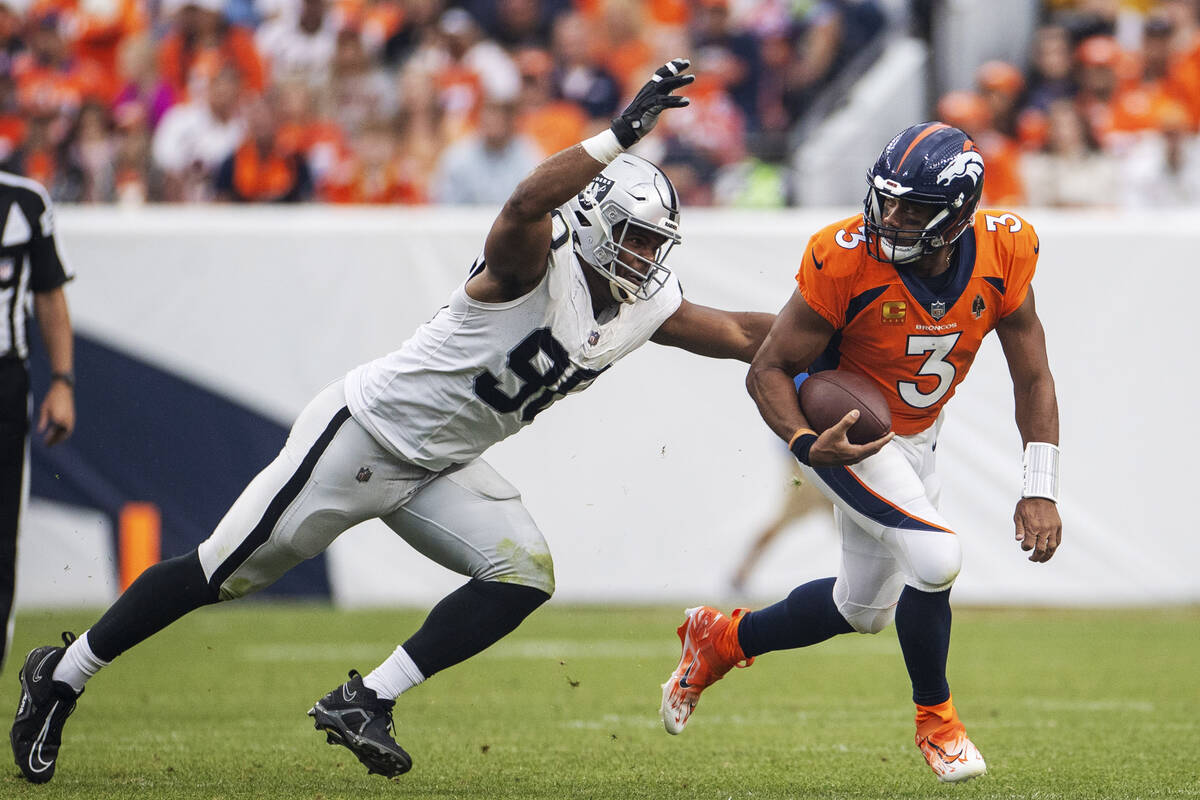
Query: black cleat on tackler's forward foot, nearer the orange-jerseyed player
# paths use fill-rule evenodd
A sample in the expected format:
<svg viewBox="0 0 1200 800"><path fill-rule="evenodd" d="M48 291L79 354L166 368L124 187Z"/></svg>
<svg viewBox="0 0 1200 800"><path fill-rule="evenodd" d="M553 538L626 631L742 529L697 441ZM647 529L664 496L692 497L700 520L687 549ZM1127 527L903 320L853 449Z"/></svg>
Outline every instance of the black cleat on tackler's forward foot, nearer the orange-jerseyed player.
<svg viewBox="0 0 1200 800"><path fill-rule="evenodd" d="M380 699L362 685L362 675L350 670L350 680L317 700L308 716L325 740L349 750L368 775L396 777L413 769L412 757L391 738L391 709L396 700Z"/></svg>

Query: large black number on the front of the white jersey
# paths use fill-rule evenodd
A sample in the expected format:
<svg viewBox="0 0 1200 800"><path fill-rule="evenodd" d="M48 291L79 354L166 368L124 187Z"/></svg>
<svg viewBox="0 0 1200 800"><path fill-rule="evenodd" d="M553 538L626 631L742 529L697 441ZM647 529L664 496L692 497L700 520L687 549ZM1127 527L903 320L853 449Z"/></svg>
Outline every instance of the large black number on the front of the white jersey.
<svg viewBox="0 0 1200 800"><path fill-rule="evenodd" d="M550 367L545 372L535 363L539 354L545 354L550 360ZM566 355L566 348L559 344L548 327L539 327L509 350L506 366L509 372L521 379L521 386L515 393L505 392L500 387L500 379L493 375L491 369L484 369L475 375L475 396L500 414L520 410L523 422L532 421L558 397L568 395L584 380L592 380L604 372L583 367L568 372L571 359ZM541 390L541 393L538 393L538 390Z"/></svg>

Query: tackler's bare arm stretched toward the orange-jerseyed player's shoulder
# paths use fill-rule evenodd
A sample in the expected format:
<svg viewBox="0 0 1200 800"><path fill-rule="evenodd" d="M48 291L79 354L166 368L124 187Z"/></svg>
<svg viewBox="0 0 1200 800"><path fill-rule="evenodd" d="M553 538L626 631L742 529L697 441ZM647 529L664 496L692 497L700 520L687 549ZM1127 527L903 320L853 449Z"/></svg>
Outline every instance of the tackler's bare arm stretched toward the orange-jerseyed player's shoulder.
<svg viewBox="0 0 1200 800"><path fill-rule="evenodd" d="M684 300L654 331L650 341L710 359L738 359L750 363L774 321L774 314L722 311Z"/></svg>

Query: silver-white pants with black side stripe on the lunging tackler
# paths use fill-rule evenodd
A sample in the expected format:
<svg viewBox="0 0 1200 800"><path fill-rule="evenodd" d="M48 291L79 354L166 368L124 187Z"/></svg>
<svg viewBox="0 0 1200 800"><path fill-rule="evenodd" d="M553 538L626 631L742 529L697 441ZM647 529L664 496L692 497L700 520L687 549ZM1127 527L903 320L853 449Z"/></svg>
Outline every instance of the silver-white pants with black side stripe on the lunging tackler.
<svg viewBox="0 0 1200 800"><path fill-rule="evenodd" d="M350 416L342 385L300 413L280 455L200 543L222 600L270 585L374 517L460 575L553 594L550 547L511 483L480 458L442 473L396 458Z"/></svg>

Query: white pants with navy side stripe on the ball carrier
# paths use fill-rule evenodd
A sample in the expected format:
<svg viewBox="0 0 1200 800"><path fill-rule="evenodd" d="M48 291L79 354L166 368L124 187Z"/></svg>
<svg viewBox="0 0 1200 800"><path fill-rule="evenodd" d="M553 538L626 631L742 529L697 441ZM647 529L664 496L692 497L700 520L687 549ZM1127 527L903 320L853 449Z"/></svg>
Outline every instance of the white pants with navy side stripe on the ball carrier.
<svg viewBox="0 0 1200 800"><path fill-rule="evenodd" d="M841 569L834 583L838 610L863 633L892 624L905 584L943 591L962 566L959 537L937 511L941 481L934 446L942 417L852 467L802 465L834 504L841 533Z"/></svg>

